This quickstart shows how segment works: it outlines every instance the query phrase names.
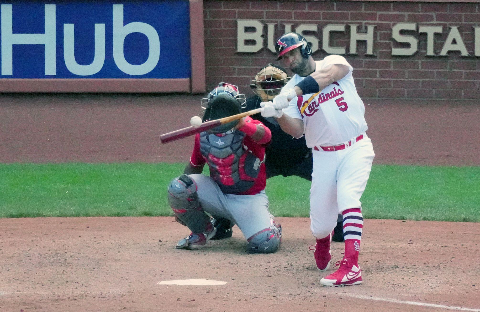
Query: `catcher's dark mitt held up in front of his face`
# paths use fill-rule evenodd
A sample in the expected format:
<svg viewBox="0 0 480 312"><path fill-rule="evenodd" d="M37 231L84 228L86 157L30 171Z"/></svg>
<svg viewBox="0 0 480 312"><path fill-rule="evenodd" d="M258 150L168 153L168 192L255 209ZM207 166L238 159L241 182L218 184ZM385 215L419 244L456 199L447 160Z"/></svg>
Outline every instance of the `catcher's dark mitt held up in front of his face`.
<svg viewBox="0 0 480 312"><path fill-rule="evenodd" d="M219 94L212 100L208 101L205 108L205 114L202 119L203 122L208 120L220 119L241 113L240 103L228 94ZM210 133L224 133L231 130L237 125L239 120L229 122L228 124L220 125L208 130Z"/></svg>

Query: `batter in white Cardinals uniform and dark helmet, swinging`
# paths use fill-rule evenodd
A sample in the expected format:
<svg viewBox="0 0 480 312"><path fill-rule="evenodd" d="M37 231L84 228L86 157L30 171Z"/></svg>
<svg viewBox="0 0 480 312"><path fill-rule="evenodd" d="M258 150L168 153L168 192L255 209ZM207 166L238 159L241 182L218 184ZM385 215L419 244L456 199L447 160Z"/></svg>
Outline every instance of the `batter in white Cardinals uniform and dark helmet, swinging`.
<svg viewBox="0 0 480 312"><path fill-rule="evenodd" d="M276 42L278 59L295 75L272 102L262 103L262 116L276 117L293 137L305 135L313 150L310 189L311 230L318 269L329 269L330 243L337 214L343 215L345 255L324 286L362 283L358 257L363 228L360 197L372 168L372 141L367 137L365 107L353 81L353 68L341 56L314 61L305 38L297 33Z"/></svg>

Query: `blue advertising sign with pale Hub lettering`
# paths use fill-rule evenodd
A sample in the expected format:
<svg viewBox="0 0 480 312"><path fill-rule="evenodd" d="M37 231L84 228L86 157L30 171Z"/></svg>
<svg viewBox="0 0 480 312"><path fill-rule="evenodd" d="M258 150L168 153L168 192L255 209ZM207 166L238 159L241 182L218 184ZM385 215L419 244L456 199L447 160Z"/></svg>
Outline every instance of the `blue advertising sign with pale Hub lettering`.
<svg viewBox="0 0 480 312"><path fill-rule="evenodd" d="M0 3L0 78L191 77L188 0Z"/></svg>

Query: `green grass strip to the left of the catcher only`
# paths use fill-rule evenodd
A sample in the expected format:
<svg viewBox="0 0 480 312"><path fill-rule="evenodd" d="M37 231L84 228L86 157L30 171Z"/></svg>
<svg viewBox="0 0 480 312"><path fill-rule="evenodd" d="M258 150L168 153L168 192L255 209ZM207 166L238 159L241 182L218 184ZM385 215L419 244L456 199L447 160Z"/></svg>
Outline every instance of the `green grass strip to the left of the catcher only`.
<svg viewBox="0 0 480 312"><path fill-rule="evenodd" d="M0 164L0 217L168 215L181 164ZM2 180L2 179L0 179Z"/></svg>

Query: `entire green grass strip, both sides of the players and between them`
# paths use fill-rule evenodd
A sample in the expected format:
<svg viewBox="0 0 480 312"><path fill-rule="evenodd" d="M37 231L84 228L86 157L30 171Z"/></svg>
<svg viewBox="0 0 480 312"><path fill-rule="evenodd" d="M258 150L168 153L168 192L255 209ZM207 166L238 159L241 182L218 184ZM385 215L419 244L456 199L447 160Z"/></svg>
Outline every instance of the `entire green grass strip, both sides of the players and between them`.
<svg viewBox="0 0 480 312"><path fill-rule="evenodd" d="M0 164L0 217L170 216L183 164ZM308 217L310 182L267 181L271 212ZM374 165L362 197L374 219L480 221L480 167Z"/></svg>

